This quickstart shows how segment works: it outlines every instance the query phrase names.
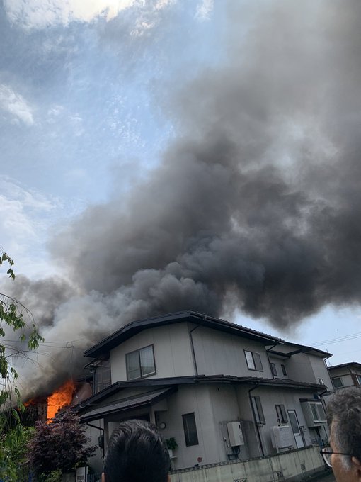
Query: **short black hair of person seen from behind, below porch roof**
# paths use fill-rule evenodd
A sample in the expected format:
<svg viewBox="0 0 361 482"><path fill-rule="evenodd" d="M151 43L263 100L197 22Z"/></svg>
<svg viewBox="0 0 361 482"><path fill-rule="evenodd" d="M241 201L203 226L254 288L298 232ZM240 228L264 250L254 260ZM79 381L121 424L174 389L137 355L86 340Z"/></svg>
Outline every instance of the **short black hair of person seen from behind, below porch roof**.
<svg viewBox="0 0 361 482"><path fill-rule="evenodd" d="M144 420L121 422L104 459L106 482L166 482L171 466L164 439Z"/></svg>

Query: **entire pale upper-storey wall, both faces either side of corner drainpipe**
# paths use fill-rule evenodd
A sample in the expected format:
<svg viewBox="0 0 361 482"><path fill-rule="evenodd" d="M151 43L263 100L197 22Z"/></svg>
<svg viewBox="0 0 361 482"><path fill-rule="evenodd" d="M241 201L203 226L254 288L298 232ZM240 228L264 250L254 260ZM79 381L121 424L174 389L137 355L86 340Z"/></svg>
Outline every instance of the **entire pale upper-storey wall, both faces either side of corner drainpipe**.
<svg viewBox="0 0 361 482"><path fill-rule="evenodd" d="M190 335L190 330L195 330ZM110 352L112 383L127 379L125 354L154 346L156 374L147 378L195 375L190 336L198 375L260 376L272 378L262 343L236 337L208 327L177 323L144 330ZM263 371L248 369L244 350L260 354Z"/></svg>

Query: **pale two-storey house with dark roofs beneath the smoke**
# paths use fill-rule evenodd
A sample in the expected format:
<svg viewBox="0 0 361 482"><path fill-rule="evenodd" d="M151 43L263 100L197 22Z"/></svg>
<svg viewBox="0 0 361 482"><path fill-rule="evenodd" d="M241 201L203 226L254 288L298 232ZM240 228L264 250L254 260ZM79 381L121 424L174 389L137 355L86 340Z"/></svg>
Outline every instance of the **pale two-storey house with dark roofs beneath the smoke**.
<svg viewBox="0 0 361 482"><path fill-rule="evenodd" d="M105 447L130 418L150 420L176 439L175 469L328 437L321 396L332 387L331 355L319 349L188 310L129 323L85 356L93 396L77 409Z"/></svg>

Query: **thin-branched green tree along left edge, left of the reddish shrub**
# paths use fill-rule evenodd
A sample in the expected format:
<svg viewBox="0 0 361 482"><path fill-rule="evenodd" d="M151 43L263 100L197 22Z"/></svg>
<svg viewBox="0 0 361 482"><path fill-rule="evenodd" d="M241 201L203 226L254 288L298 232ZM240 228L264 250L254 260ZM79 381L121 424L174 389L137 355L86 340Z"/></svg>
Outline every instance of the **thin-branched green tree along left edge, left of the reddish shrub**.
<svg viewBox="0 0 361 482"><path fill-rule="evenodd" d="M4 266L7 276L15 279L13 260L0 249L0 267ZM6 341L9 329L18 337L14 345ZM0 479L9 482L21 481L19 469L30 433L21 425L19 413L25 407L17 386L18 373L11 361L13 357L27 357L43 341L30 311L18 300L0 293Z"/></svg>

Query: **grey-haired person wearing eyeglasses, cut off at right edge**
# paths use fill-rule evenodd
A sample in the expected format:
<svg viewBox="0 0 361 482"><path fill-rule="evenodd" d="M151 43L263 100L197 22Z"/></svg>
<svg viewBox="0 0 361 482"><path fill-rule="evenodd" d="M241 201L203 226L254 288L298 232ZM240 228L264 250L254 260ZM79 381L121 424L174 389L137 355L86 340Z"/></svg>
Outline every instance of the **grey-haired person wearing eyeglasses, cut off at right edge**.
<svg viewBox="0 0 361 482"><path fill-rule="evenodd" d="M361 482L361 388L343 388L326 402L330 447L321 449L336 482Z"/></svg>

